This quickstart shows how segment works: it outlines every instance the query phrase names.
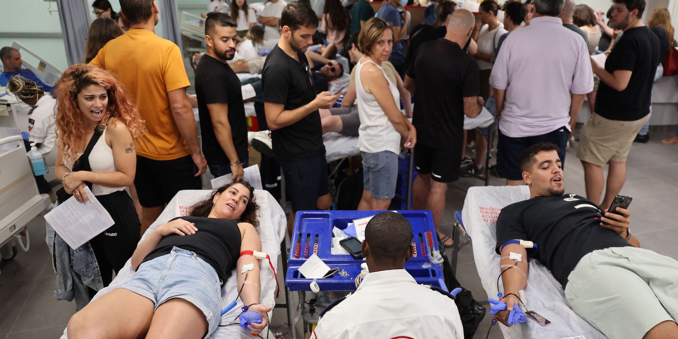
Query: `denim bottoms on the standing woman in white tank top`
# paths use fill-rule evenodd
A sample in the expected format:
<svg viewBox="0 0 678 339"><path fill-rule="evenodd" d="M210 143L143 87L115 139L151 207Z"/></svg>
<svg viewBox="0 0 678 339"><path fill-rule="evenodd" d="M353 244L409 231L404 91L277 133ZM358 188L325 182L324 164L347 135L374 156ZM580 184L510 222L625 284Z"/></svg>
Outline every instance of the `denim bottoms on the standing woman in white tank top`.
<svg viewBox="0 0 678 339"><path fill-rule="evenodd" d="M361 155L365 191L370 191L377 200L393 199L398 180L398 155L391 151L361 152Z"/></svg>

